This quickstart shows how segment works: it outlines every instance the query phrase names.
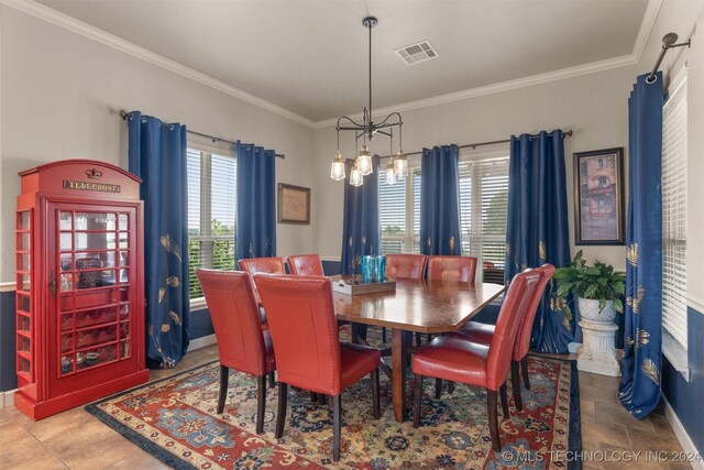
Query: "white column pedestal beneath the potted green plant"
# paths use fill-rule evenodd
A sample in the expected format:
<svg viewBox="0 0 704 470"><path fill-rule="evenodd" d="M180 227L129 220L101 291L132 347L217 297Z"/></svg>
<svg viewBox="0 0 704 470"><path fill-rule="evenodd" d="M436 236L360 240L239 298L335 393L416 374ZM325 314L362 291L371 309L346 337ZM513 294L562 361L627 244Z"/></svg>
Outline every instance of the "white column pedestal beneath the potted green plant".
<svg viewBox="0 0 704 470"><path fill-rule="evenodd" d="M619 376L614 336L618 326L614 323L580 320L582 347L576 353L576 367L581 371Z"/></svg>

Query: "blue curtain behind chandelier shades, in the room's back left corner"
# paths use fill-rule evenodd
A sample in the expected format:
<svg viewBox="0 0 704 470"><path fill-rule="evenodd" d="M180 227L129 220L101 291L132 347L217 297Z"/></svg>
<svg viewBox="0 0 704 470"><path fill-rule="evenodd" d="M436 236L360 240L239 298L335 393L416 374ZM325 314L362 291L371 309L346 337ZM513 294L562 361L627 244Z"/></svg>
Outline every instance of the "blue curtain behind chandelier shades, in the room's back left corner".
<svg viewBox="0 0 704 470"><path fill-rule="evenodd" d="M345 173L352 172L353 161L345 163ZM374 155L373 173L364 176L362 186L344 181L344 212L342 222L342 274L360 274L361 256L381 254L378 225L378 165Z"/></svg>

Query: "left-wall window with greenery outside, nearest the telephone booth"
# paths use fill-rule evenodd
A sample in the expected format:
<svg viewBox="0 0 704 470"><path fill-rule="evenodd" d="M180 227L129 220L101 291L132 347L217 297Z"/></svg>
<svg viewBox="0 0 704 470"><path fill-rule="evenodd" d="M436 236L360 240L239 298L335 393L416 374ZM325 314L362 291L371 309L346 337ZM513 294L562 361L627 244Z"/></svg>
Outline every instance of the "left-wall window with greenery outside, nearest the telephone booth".
<svg viewBox="0 0 704 470"><path fill-rule="evenodd" d="M237 164L233 154L197 150L190 143L186 159L189 294L193 302L204 296L196 277L197 269L234 269Z"/></svg>

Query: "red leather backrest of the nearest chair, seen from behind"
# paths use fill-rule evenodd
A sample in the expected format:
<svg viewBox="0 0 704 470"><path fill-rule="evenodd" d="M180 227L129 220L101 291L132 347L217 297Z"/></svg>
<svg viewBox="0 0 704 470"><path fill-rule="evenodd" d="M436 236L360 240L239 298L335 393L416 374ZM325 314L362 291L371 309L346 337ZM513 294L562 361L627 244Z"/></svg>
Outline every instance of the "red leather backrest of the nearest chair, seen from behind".
<svg viewBox="0 0 704 470"><path fill-rule="evenodd" d="M330 280L256 274L254 283L266 309L278 379L338 395L342 391L340 339Z"/></svg>

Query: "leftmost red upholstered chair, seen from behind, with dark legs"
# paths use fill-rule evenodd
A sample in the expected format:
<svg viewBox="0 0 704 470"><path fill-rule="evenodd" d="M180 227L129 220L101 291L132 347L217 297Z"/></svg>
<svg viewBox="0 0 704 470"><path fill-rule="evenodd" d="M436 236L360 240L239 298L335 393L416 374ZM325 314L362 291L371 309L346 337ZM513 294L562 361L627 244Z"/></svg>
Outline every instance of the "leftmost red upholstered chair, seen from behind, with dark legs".
<svg viewBox="0 0 704 470"><path fill-rule="evenodd" d="M268 331L262 329L252 280L241 271L197 270L220 354L218 414L224 408L230 369L256 376L256 433L264 431L265 376L276 370Z"/></svg>

